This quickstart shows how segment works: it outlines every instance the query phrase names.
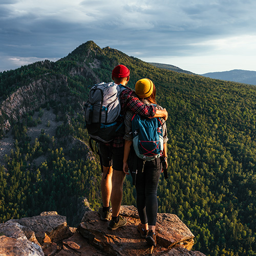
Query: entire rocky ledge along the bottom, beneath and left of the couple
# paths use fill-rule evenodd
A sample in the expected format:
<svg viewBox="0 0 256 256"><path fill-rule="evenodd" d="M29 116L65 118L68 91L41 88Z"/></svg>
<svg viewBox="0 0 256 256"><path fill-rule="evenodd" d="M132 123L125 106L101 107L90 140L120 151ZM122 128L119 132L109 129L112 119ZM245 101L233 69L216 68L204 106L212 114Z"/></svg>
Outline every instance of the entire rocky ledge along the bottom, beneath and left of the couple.
<svg viewBox="0 0 256 256"><path fill-rule="evenodd" d="M77 228L55 211L0 224L0 255L204 255L191 251L194 235L172 214L158 214L157 246L148 247L136 229L134 206L121 206L127 224L109 230L96 211L86 211Z"/></svg>

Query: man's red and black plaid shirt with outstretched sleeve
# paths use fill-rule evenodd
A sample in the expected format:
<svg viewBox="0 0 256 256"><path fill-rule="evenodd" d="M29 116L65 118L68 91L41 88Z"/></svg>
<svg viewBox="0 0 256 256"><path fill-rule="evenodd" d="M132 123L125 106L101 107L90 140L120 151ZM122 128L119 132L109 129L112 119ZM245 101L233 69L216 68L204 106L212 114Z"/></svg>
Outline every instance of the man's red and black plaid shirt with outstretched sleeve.
<svg viewBox="0 0 256 256"><path fill-rule="evenodd" d="M156 114L156 107L152 105L145 105L142 101L139 100L138 96L130 88L125 87L128 90L122 91L120 95L121 103L121 118L118 122L121 123L124 121L124 116L127 111L132 111L133 113L139 114L141 116L153 117ZM107 145L110 145L109 143ZM122 137L115 137L113 140L113 147L124 146L124 139Z"/></svg>

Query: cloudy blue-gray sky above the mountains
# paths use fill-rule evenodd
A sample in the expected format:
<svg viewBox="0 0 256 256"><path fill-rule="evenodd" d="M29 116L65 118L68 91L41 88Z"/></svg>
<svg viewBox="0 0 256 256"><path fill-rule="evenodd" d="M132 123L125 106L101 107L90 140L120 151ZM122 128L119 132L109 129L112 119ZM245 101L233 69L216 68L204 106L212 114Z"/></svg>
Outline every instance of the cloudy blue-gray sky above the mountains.
<svg viewBox="0 0 256 256"><path fill-rule="evenodd" d="M256 71L255 0L0 0L0 72L93 40L196 74Z"/></svg>

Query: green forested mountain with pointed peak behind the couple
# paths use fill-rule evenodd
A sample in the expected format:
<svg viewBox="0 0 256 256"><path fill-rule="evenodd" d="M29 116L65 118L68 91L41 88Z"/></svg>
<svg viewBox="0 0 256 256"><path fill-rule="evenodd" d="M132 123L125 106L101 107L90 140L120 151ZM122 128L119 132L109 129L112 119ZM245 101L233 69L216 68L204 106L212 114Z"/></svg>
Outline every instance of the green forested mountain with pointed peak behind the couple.
<svg viewBox="0 0 256 256"><path fill-rule="evenodd" d="M159 212L176 214L206 255L255 255L256 88L159 69L93 41L56 62L0 73L0 149L13 139L0 158L0 222L56 210L74 225L80 198L99 207L101 171L88 153L82 107L118 63L131 70L131 88L154 81L169 114ZM44 124L49 113L55 120ZM135 205L134 196L127 176L122 203Z"/></svg>

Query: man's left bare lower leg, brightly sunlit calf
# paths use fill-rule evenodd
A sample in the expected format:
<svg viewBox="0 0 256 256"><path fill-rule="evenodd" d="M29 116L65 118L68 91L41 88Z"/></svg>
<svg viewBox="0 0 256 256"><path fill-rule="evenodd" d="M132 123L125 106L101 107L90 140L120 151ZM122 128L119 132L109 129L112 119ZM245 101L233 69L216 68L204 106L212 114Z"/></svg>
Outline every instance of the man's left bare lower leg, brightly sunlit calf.
<svg viewBox="0 0 256 256"><path fill-rule="evenodd" d="M109 174L106 175L108 172ZM103 207L110 206L110 197L111 197L111 191L112 191L112 176L113 176L112 166L110 167L103 166L103 173L102 173L101 183L100 183Z"/></svg>

